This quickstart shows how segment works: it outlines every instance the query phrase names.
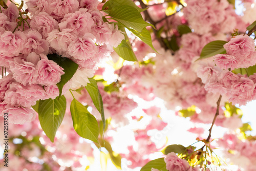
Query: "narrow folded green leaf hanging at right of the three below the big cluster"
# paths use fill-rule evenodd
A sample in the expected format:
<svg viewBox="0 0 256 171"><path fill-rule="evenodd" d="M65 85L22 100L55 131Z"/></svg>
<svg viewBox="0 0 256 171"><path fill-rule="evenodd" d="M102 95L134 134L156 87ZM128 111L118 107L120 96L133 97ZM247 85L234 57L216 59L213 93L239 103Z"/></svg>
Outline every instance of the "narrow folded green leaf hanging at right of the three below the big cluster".
<svg viewBox="0 0 256 171"><path fill-rule="evenodd" d="M103 122L103 129L105 128L105 116L104 116L104 108L103 108L103 102L102 97L99 93L99 88L97 85L97 82L93 78L89 78L90 83L87 84L85 87L88 91L89 95L91 96L93 100L93 104L95 105L96 109L99 111L101 115L101 120Z"/></svg>

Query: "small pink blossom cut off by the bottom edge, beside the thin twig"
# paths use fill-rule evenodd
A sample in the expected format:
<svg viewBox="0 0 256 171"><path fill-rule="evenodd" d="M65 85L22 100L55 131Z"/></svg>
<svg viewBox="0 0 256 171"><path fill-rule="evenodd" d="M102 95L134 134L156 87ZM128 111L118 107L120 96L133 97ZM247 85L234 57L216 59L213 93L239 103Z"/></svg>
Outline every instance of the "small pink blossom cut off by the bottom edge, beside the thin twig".
<svg viewBox="0 0 256 171"><path fill-rule="evenodd" d="M186 160L178 158L174 152L168 153L164 162L166 163L166 169L169 171L187 171L190 167Z"/></svg>

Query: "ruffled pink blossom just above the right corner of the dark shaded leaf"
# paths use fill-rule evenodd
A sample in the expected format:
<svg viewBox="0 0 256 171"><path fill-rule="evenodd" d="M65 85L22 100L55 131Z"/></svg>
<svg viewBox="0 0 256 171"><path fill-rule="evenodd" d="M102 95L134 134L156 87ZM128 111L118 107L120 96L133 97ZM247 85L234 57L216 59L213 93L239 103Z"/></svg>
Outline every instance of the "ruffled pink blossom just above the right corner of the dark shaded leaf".
<svg viewBox="0 0 256 171"><path fill-rule="evenodd" d="M75 59L85 60L94 57L97 53L94 36L91 33L84 34L83 37L78 37L72 41L68 48L68 53Z"/></svg>

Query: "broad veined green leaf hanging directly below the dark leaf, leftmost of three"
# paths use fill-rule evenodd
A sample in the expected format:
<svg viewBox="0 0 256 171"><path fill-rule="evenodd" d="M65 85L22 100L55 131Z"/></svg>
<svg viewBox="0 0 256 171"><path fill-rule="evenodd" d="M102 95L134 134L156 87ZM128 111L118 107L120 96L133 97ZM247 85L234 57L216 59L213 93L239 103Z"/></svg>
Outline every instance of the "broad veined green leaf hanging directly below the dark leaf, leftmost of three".
<svg viewBox="0 0 256 171"><path fill-rule="evenodd" d="M38 118L40 125L52 142L65 115L66 105L66 98L63 95L58 99L49 98L39 101Z"/></svg>

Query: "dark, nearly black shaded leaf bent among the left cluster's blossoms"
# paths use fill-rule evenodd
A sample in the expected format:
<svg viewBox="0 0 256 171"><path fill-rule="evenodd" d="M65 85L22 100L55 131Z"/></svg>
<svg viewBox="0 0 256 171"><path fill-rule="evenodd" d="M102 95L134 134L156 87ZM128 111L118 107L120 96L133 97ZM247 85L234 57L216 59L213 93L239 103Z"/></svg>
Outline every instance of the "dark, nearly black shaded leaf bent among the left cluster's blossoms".
<svg viewBox="0 0 256 171"><path fill-rule="evenodd" d="M47 55L49 60L53 60L56 62L60 67L64 69L65 74L61 75L60 82L56 84L56 86L59 88L59 97L62 94L62 88L63 86L72 78L72 76L75 74L78 65L77 63L73 62L69 58L61 57L58 54L48 54Z"/></svg>

